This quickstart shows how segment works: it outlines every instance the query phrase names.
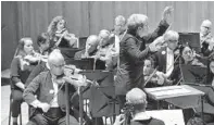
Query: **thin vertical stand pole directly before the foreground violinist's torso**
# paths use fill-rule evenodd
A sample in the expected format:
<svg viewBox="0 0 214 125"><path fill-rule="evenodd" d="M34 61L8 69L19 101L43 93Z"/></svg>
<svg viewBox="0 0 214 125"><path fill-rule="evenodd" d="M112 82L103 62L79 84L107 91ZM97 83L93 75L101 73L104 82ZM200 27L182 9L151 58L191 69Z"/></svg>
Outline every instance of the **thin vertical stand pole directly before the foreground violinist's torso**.
<svg viewBox="0 0 214 125"><path fill-rule="evenodd" d="M66 103L66 125L70 125L70 95L68 95L68 84L65 83L65 103Z"/></svg>

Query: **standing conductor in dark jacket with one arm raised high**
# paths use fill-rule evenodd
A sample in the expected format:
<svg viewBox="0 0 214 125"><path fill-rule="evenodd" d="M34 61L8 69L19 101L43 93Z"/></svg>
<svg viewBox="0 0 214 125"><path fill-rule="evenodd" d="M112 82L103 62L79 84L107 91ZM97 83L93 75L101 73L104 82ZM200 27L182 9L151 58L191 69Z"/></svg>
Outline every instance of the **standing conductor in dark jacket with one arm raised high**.
<svg viewBox="0 0 214 125"><path fill-rule="evenodd" d="M127 20L127 33L119 42L119 64L115 77L115 92L121 100L121 107L125 102L125 95L134 87L143 88L143 60L156 51L155 43L152 42L162 36L168 27L168 17L172 8L166 8L163 20L154 33L148 34L148 17L143 14L131 14Z"/></svg>

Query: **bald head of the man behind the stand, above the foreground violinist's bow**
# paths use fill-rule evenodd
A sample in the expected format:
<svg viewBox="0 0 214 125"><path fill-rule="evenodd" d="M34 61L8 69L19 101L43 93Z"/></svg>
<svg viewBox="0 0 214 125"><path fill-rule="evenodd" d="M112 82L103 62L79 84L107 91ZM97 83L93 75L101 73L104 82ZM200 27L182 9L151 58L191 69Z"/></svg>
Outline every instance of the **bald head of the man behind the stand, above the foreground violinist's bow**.
<svg viewBox="0 0 214 125"><path fill-rule="evenodd" d="M86 41L86 51L88 53L95 51L99 45L99 38L97 35L90 35Z"/></svg>

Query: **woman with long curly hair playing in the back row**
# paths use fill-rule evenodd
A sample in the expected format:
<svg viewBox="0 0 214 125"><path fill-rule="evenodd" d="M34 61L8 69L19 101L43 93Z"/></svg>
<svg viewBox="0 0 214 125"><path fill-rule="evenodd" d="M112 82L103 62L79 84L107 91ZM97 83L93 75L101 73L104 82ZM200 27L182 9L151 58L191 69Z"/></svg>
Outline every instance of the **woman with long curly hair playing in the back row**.
<svg viewBox="0 0 214 125"><path fill-rule="evenodd" d="M48 26L47 33L51 39L51 48L77 48L77 38L74 34L68 33L63 16L55 16Z"/></svg>

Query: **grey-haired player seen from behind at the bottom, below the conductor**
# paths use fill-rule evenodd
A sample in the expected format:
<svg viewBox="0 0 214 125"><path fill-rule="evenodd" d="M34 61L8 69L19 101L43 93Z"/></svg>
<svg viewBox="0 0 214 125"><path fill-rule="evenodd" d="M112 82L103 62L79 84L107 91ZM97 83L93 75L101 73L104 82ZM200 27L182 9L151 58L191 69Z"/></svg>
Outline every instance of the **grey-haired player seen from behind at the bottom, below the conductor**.
<svg viewBox="0 0 214 125"><path fill-rule="evenodd" d="M146 113L147 108L147 95L139 88L133 88L126 93L126 103L129 105L125 111L125 116L119 115L116 118L114 125L122 125L124 118L128 118L128 114L130 113L130 125L165 125L163 121L154 118ZM129 120L127 120L129 123Z"/></svg>

